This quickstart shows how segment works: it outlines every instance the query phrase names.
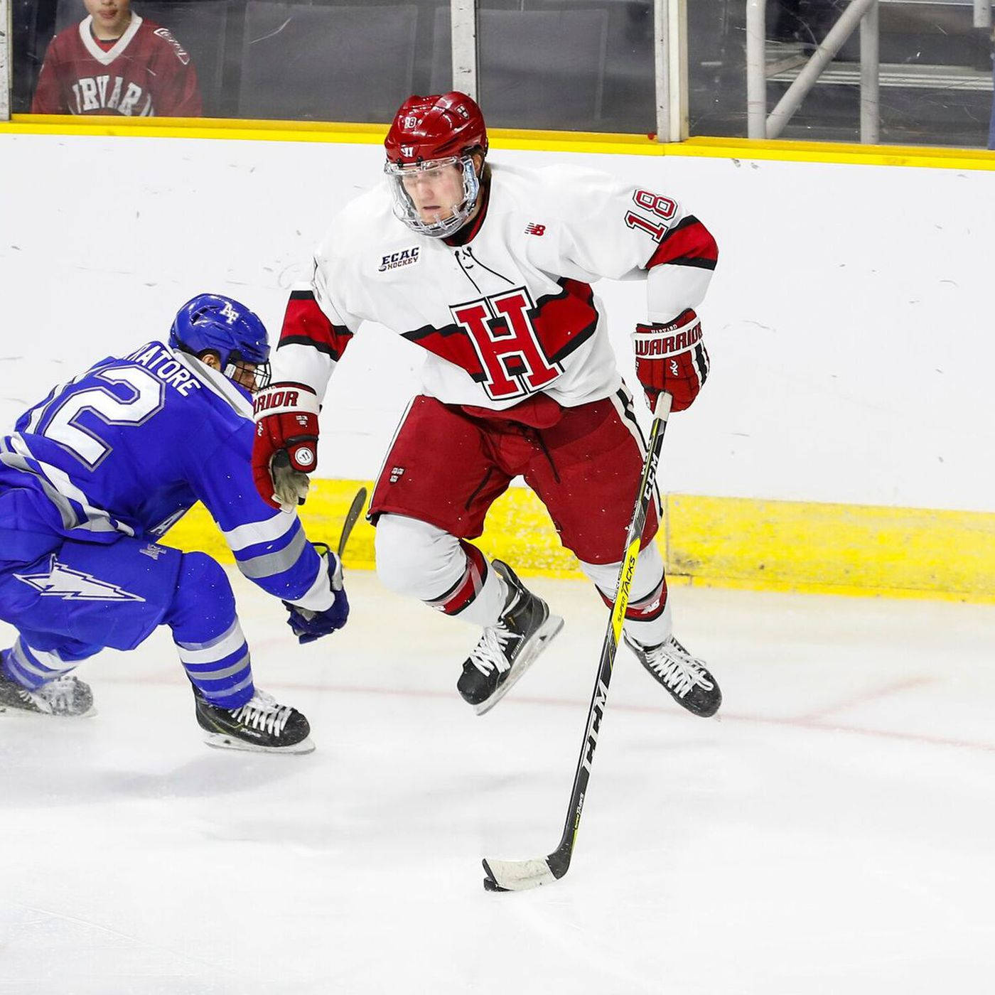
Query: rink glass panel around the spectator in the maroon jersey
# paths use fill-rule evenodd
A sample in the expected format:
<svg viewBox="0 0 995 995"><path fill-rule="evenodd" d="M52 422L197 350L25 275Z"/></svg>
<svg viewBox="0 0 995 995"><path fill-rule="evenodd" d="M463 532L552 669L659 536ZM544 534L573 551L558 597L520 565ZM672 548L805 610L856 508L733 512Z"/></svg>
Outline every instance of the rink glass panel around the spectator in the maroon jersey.
<svg viewBox="0 0 995 995"><path fill-rule="evenodd" d="M27 112L49 43L87 12L82 0L14 3L13 109ZM190 53L207 116L385 123L449 63L448 38L445 58L434 38L449 0L133 0L131 9Z"/></svg>

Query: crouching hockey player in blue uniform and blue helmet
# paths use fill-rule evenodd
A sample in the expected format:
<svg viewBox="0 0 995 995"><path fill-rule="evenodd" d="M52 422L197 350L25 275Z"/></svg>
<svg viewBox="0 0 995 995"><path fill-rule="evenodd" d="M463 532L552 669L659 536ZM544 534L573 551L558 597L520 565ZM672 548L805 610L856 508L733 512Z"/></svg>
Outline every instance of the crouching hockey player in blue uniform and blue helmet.
<svg viewBox="0 0 995 995"><path fill-rule="evenodd" d="M253 684L225 571L158 541L201 500L301 643L345 624L338 558L253 484L252 394L269 355L256 314L200 295L168 345L100 360L0 437L0 619L18 632L0 652L0 712L92 713L90 688L69 672L167 625L208 743L313 749L304 716Z"/></svg>

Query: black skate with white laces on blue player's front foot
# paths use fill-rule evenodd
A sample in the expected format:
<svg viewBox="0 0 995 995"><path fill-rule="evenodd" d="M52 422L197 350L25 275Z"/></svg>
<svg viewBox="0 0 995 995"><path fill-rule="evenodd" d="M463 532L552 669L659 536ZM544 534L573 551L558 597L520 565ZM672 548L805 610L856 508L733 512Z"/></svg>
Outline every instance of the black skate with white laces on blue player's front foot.
<svg viewBox="0 0 995 995"><path fill-rule="evenodd" d="M309 753L310 725L297 708L278 704L272 695L256 694L238 708L219 708L196 688L193 697L204 742L221 749L247 749L265 753Z"/></svg>

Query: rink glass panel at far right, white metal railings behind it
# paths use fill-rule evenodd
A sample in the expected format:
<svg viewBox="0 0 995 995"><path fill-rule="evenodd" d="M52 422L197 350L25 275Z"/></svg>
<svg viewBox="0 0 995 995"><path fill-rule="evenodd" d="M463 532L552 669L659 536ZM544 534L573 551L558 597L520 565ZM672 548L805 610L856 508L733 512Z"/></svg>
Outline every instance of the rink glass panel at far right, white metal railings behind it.
<svg viewBox="0 0 995 995"><path fill-rule="evenodd" d="M767 0L767 113L850 0ZM990 28L972 0L881 0L881 142L984 148L992 115ZM746 0L689 0L690 133L746 137ZM781 138L860 141L858 28Z"/></svg>

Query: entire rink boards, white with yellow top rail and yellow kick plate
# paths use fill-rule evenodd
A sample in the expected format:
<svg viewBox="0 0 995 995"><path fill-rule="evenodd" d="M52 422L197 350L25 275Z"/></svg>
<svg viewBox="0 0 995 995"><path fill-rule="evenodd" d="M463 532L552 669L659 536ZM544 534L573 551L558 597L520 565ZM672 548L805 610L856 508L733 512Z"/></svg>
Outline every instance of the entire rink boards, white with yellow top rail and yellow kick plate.
<svg viewBox="0 0 995 995"><path fill-rule="evenodd" d="M0 124L0 162L21 178L0 185L0 419L95 359L164 337L199 292L241 299L275 338L328 220L377 181L383 133ZM492 147L498 166L570 161L664 190L718 239L700 308L712 369L674 419L661 475L660 541L677 582L995 600L995 155L500 129ZM596 291L635 385L628 336L644 291ZM314 534L334 538L358 483L375 477L420 362L376 326L346 353L303 509ZM227 555L197 511L167 541ZM523 489L498 503L481 544L525 572L574 569ZM346 563L372 559L361 524Z"/></svg>

